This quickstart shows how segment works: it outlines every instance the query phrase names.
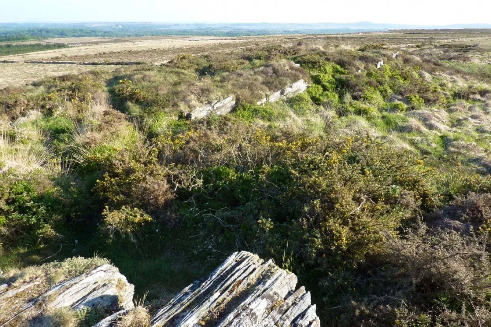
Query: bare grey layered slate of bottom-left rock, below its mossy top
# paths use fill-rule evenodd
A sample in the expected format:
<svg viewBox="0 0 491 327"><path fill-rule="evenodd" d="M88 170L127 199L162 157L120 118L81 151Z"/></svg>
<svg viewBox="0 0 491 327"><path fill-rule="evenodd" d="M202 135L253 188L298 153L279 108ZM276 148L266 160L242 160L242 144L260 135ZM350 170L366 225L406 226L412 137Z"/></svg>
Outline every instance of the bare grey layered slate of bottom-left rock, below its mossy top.
<svg viewBox="0 0 491 327"><path fill-rule="evenodd" d="M0 294L0 326L18 326L21 322L41 317L46 310L84 307L131 309L134 307L134 285L117 268L101 265L47 291L41 277L24 285L9 287ZM41 294L39 291L41 290Z"/></svg>

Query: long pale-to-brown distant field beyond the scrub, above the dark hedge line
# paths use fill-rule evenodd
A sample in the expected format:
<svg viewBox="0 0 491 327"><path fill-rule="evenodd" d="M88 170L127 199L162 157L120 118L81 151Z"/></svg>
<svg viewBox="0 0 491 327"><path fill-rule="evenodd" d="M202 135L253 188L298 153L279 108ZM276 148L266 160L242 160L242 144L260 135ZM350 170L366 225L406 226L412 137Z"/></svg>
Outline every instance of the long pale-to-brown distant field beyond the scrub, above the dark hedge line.
<svg viewBox="0 0 491 327"><path fill-rule="evenodd" d="M308 42L317 47L344 46L357 48L366 43L383 43L393 48L432 47L445 43L480 43L481 48L491 48L491 32L484 29L478 33L467 30L402 30L353 34L326 35L281 35L281 36L145 36L129 38L72 37L46 39L49 43L66 43L67 49L0 56L0 60L71 60L84 62L104 61L145 61L161 63L178 53L201 54L215 51L228 51L242 47L268 44L296 44ZM481 61L481 60L479 60Z"/></svg>

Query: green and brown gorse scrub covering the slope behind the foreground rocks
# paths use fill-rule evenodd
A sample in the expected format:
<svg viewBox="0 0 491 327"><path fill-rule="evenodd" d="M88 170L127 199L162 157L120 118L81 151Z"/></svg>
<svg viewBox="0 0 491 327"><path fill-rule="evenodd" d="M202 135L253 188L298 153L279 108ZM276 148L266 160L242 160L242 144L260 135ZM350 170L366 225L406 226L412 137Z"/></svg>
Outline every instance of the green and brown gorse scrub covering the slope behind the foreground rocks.
<svg viewBox="0 0 491 327"><path fill-rule="evenodd" d="M7 87L0 267L97 252L148 292L121 323L144 326L248 250L299 276L323 326L489 326L491 84L477 58L472 44L305 41ZM257 105L300 79L305 92ZM231 113L186 119L229 95Z"/></svg>

